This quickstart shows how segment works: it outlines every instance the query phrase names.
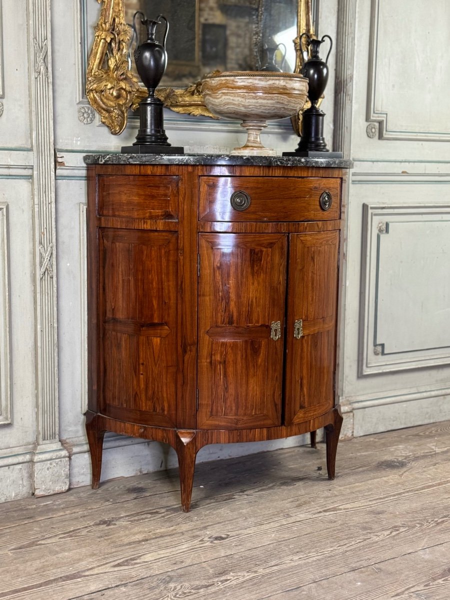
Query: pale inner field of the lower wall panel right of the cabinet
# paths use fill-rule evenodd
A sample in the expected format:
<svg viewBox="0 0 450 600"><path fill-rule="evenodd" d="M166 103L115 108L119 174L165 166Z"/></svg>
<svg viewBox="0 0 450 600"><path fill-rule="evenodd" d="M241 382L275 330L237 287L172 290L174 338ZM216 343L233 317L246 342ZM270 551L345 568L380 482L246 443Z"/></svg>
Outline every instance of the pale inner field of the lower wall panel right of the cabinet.
<svg viewBox="0 0 450 600"><path fill-rule="evenodd" d="M379 238L375 345L385 355L450 346L450 215L412 219Z"/></svg>

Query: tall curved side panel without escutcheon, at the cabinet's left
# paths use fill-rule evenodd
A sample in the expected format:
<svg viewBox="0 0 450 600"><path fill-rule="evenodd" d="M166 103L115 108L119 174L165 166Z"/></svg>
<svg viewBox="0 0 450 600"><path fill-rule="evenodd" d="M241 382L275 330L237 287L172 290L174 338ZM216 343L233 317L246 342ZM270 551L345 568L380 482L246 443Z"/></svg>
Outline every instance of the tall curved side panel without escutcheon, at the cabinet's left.
<svg viewBox="0 0 450 600"><path fill-rule="evenodd" d="M173 427L177 234L99 233L101 412Z"/></svg>

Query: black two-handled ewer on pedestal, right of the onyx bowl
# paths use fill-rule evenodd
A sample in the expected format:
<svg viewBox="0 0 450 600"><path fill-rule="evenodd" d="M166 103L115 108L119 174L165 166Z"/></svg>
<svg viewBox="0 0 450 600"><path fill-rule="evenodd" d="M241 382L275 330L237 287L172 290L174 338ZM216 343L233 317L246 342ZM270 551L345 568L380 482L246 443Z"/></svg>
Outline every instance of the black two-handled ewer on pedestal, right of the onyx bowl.
<svg viewBox="0 0 450 600"><path fill-rule="evenodd" d="M333 41L329 35L323 35L321 40L316 40L308 34L302 34L299 40L300 47L302 38L306 38L310 54L310 58L308 58L308 51L305 50L303 52L305 62L301 72L308 79L308 99L311 106L302 113L302 134L298 148L295 152L283 152L283 155L319 158L322 152L326 152L326 156L329 158L342 158L341 152L329 152L326 147L325 138L323 137L325 113L317 106L328 83L329 69L327 63L333 47ZM320 44L326 38L330 41L330 47L326 59L323 61L319 56L319 50Z"/></svg>

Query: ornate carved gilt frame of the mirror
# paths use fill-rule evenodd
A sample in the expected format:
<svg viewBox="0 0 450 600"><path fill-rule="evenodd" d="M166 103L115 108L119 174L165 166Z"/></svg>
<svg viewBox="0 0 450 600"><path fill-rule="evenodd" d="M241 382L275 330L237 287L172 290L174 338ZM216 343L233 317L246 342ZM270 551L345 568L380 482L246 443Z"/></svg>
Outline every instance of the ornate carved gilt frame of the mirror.
<svg viewBox="0 0 450 600"><path fill-rule="evenodd" d="M139 79L128 65L131 28L125 23L125 0L97 2L102 7L88 60L86 95L92 108L99 113L101 122L112 134L118 135L127 125L128 111L137 109L140 100L147 95L147 90L140 85ZM293 40L296 52L295 73L300 73L303 66L299 39L305 32L314 35L311 0L298 0L297 37ZM185 88L160 87L157 89L157 96L164 106L175 112L217 118L203 104L200 81ZM292 119L297 134L300 118L298 115Z"/></svg>

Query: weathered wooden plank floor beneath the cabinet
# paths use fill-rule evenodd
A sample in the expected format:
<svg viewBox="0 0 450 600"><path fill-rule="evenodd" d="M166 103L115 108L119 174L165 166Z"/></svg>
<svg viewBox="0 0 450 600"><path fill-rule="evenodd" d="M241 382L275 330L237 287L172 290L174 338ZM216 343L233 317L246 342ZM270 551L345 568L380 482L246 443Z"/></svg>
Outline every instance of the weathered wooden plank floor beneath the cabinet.
<svg viewBox="0 0 450 600"><path fill-rule="evenodd" d="M450 422L0 505L0 599L450 600Z"/></svg>

